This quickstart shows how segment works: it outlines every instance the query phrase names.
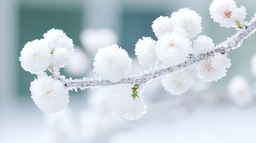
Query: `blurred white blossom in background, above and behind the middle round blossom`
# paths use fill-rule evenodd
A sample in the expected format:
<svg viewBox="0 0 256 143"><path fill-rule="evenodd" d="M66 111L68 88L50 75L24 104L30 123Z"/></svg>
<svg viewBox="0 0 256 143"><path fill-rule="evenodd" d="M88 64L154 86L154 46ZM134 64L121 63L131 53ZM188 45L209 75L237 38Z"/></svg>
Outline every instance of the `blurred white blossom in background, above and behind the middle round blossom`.
<svg viewBox="0 0 256 143"><path fill-rule="evenodd" d="M107 45L113 45L118 42L116 33L107 28L103 29L85 29L80 35L82 45L87 51L94 55L99 48L104 48Z"/></svg>

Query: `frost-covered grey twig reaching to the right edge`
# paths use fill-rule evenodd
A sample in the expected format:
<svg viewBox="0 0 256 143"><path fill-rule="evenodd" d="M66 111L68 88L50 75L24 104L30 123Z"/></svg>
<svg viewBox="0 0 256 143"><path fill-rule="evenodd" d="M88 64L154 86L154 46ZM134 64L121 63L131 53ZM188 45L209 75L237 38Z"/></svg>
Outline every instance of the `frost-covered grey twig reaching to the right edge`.
<svg viewBox="0 0 256 143"><path fill-rule="evenodd" d="M146 74L138 74L134 76L127 76L121 79L119 82L110 82L109 80L101 80L101 79L73 79L73 80L64 80L66 86L68 88L93 88L97 86L107 86L107 85L118 85L120 83L123 84L141 84L146 83L149 80L154 79L155 77L163 76L173 71L177 71L183 69L184 67L190 66L192 64L198 63L201 60L213 57L217 53L225 54L230 51L230 49L235 49L243 42L244 39L248 38L252 33L256 30L256 14L252 17L251 21L249 21L243 29L239 29L238 32L232 37L228 38L226 41L218 44L216 48L210 52L190 55L184 63L178 64L177 66L166 67L164 69L158 69L155 71L151 71Z"/></svg>

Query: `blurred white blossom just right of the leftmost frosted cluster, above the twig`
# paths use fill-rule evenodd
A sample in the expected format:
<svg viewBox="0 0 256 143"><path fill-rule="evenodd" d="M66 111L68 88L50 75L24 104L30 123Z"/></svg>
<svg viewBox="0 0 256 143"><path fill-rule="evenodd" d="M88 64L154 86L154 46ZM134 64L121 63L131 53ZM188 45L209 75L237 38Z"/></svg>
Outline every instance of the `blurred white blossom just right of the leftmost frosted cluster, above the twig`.
<svg viewBox="0 0 256 143"><path fill-rule="evenodd" d="M84 76L89 66L90 61L87 55L85 55L82 49L76 48L69 61L67 61L65 70L73 76Z"/></svg>

